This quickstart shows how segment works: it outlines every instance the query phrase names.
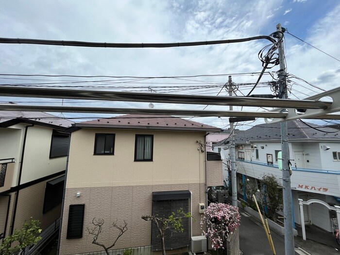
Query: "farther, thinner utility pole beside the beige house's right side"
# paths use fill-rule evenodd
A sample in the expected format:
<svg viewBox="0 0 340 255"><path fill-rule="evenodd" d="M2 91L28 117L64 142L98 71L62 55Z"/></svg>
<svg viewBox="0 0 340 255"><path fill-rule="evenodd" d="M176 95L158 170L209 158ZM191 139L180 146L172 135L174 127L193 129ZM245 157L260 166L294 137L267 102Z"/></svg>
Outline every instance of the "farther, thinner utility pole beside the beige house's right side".
<svg viewBox="0 0 340 255"><path fill-rule="evenodd" d="M231 76L229 75L228 88L229 96L233 95L233 83L231 81ZM230 111L233 110L233 106L229 106ZM236 161L235 161L235 132L234 132L234 122L230 123L231 130L231 143L230 143L230 163L231 163L231 193L233 206L238 207L238 194L237 194L237 183L236 183Z"/></svg>

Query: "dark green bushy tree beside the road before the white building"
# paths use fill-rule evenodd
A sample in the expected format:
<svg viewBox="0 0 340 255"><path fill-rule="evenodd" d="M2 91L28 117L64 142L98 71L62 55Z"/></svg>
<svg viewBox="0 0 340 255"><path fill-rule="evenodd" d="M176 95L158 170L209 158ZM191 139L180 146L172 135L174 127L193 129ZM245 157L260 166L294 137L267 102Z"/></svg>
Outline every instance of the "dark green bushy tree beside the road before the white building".
<svg viewBox="0 0 340 255"><path fill-rule="evenodd" d="M272 174L264 175L260 182L262 186L261 192L263 192L261 202L270 209L270 217L276 220L276 213L283 209L282 188L279 187L279 182Z"/></svg>

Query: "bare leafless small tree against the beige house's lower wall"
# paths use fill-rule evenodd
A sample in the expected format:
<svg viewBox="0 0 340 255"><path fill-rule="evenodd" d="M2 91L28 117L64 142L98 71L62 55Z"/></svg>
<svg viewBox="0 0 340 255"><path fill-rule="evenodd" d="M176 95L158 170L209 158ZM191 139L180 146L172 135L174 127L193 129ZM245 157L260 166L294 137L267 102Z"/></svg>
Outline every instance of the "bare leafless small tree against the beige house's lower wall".
<svg viewBox="0 0 340 255"><path fill-rule="evenodd" d="M117 238L113 241L113 243L109 246L106 246L100 242L98 242L98 237L99 235L102 233L102 225L104 224L104 220L103 219L96 219L93 218L92 220L92 224L94 225L93 227L87 227L87 231L89 235L93 236L93 244L96 244L98 246L101 246L104 250L105 253L107 255L109 255L109 249L111 249L113 246L116 245L116 242L118 241L118 239L126 232L127 230L127 222L123 221L123 224L119 225L117 223L117 220L115 222L112 222L111 226L118 229L119 230L119 234L117 236Z"/></svg>

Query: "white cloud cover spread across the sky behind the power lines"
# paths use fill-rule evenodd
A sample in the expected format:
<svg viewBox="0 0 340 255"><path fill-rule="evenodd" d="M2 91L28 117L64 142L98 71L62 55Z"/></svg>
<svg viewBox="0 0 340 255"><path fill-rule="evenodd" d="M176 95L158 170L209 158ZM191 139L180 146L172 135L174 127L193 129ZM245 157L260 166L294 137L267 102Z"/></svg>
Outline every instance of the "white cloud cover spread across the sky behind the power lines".
<svg viewBox="0 0 340 255"><path fill-rule="evenodd" d="M279 4L281 5L277 7ZM283 1L265 0L250 1L247 4L224 0L106 0L98 1L96 4L89 0L83 0L82 4L75 0L51 2L12 0L5 1L0 9L0 22L6 24L0 26L0 34L1 37L14 38L125 43L233 39L262 35L263 31L266 31L265 34L274 32L278 22L273 19L282 13L282 10L286 10L287 14L292 9L289 9ZM326 48L327 52L335 56L338 55L339 11L339 8L335 8L327 17L318 21L306 38L306 41L317 47ZM284 25L291 20L289 16L286 16L287 21ZM99 49L2 44L0 62L3 73L180 76L259 72L262 66L257 53L267 44L268 41L260 40L167 49ZM332 79L340 78L338 73L331 71L337 69L337 66L334 66L335 61L288 34L286 47L288 72L326 88L334 86ZM328 80L327 74L330 75ZM257 76L233 75L232 78L235 83L246 83L255 82ZM203 79L218 84L227 81L227 77L197 78ZM271 78L266 77L262 80ZM294 85L294 89L295 87L304 92L304 89ZM239 89L240 92L247 93L250 88L244 89L240 86ZM219 89L212 91L212 95L216 95L216 91ZM238 95L241 95L240 92ZM293 92L300 98L305 97L299 92ZM312 91L307 92L315 94ZM255 93L272 92L266 87L256 88ZM222 90L220 95L227 95L227 92ZM148 107L148 103L135 102L101 102L93 105ZM182 109L203 109L204 106L171 105L173 108ZM167 106L155 103L155 107ZM221 109L221 106L212 106L208 109ZM240 110L240 107L238 109ZM225 124L225 121L217 118L204 119L202 121L205 123L214 123L218 126Z"/></svg>

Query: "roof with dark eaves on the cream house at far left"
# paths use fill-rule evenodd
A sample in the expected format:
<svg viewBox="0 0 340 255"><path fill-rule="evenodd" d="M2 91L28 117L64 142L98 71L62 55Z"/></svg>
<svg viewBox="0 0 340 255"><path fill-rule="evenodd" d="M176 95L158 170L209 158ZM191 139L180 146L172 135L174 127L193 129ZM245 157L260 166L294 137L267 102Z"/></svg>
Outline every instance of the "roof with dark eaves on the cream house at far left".
<svg viewBox="0 0 340 255"><path fill-rule="evenodd" d="M17 123L32 123L65 129L74 122L44 112L0 111L0 127L9 127Z"/></svg>

